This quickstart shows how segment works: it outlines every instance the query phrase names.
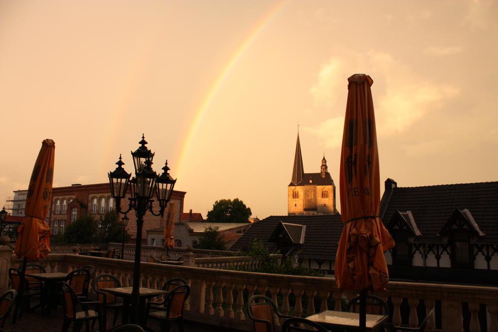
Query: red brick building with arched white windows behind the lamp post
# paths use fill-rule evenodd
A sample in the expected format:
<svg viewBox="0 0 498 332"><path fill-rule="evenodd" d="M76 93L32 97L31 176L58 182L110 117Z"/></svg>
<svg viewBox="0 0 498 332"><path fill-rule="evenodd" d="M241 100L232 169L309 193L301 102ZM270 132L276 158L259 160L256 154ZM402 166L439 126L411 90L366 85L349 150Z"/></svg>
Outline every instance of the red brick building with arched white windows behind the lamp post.
<svg viewBox="0 0 498 332"><path fill-rule="evenodd" d="M185 192L173 191L169 204L174 205L175 221L180 221L183 213L183 200ZM127 200L122 200L122 208L127 207ZM157 202L153 204L154 211L159 211ZM116 202L111 197L109 183L99 183L91 185L74 184L69 187L58 187L52 189L52 207L49 211L47 221L52 232L59 234L64 232L71 221L76 220L84 214L90 214L97 220L104 217L105 213L114 210ZM121 216L120 216L121 217ZM128 214L128 233L131 238L136 237L136 217L133 212ZM152 216L146 213L143 216L142 238L146 238L146 230L161 226L161 217Z"/></svg>

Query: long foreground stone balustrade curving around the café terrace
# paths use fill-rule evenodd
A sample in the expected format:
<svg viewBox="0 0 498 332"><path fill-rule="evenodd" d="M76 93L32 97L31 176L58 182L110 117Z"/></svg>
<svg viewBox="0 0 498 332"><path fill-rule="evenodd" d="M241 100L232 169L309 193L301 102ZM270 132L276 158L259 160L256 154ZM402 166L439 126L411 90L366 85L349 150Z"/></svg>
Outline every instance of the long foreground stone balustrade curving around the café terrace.
<svg viewBox="0 0 498 332"><path fill-rule="evenodd" d="M20 259L12 258L13 266ZM38 261L49 271L71 271L94 265L96 274L111 273L131 286L133 262L91 256L53 254ZM192 288L185 307L187 320L250 331L246 316L248 297L266 294L283 314L306 317L324 310L341 310L341 303L355 294L343 294L333 278L263 274L191 266L141 264L142 287L161 288L171 278L185 278ZM395 325L417 326L432 308L426 331L497 332L498 287L390 282L387 292L377 294L390 307ZM275 324L279 324L275 319Z"/></svg>

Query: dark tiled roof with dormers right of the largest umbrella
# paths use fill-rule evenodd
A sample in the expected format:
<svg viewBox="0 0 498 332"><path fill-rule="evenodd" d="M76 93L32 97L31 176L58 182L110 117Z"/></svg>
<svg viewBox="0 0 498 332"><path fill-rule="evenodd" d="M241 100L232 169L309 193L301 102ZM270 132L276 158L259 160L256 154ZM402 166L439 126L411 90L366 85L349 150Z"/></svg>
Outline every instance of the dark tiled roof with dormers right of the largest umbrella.
<svg viewBox="0 0 498 332"><path fill-rule="evenodd" d="M410 211L420 233L417 242L441 242L441 232L455 211L465 212L469 222L477 223L486 235L476 239L478 243L498 243L498 182L467 183L424 187L393 188L384 192L385 211L381 218L388 224L397 211ZM389 197L387 199L387 197ZM471 216L471 217L469 217ZM475 227L474 227L475 228Z"/></svg>

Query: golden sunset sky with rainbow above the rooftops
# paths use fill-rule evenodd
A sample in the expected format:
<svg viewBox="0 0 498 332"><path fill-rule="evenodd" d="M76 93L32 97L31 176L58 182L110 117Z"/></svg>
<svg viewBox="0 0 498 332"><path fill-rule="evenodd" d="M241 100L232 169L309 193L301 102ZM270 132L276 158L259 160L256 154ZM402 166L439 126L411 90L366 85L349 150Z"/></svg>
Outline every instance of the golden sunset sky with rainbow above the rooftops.
<svg viewBox="0 0 498 332"><path fill-rule="evenodd" d="M0 0L0 201L45 138L59 187L107 182L120 153L131 172L144 133L185 212L286 215L298 123L304 171L325 153L339 186L355 73L373 78L381 181L497 181L497 35L486 0Z"/></svg>

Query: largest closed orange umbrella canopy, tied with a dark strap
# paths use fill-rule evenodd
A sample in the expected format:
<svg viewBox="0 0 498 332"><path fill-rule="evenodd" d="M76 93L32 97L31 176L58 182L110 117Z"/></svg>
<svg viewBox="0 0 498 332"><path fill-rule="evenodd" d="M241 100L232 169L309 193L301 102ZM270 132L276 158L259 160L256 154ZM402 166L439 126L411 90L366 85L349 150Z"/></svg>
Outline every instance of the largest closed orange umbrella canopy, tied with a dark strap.
<svg viewBox="0 0 498 332"><path fill-rule="evenodd" d="M373 113L373 80L348 79L348 102L340 166L341 215L345 223L336 254L335 276L341 290L383 291L389 281L384 251L394 240L378 218L380 176Z"/></svg>

